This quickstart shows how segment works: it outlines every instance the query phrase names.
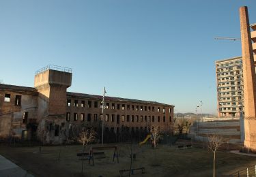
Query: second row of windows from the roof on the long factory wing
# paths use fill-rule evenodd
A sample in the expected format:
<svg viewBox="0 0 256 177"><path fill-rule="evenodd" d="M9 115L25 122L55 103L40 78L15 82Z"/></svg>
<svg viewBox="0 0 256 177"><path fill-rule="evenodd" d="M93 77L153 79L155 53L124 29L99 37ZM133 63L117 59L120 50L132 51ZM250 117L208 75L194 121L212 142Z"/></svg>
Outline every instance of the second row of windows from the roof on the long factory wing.
<svg viewBox="0 0 256 177"><path fill-rule="evenodd" d="M130 115L115 115L115 114L106 114L105 115L105 121L106 122L112 122L114 123L115 122L115 118L116 118L116 122L117 124L121 122L126 122L126 123L129 123L129 122L149 122L149 123L154 123L155 121L157 121L158 123L160 122L160 116L157 117L157 119L155 120L155 116L130 116ZM87 114L87 122L91 122L93 119L94 122L98 122L98 120L102 120L102 114L100 114L100 117L98 116L98 114ZM162 122L165 123L165 116L162 116ZM66 120L69 122L71 120L71 115L70 115L70 112L67 112L66 114ZM78 113L74 113L73 114L73 120L74 121L85 121L85 114L84 113L81 113L80 115ZM169 116L169 122L171 122L171 116Z"/></svg>

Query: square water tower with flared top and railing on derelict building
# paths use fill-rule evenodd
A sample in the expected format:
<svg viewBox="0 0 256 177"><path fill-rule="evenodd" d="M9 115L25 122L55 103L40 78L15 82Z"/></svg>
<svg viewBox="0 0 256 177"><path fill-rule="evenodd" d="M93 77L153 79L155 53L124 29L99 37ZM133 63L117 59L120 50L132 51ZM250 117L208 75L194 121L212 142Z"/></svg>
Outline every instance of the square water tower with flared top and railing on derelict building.
<svg viewBox="0 0 256 177"><path fill-rule="evenodd" d="M72 70L48 65L35 74L38 90L38 136L46 143L61 143L66 127L66 91L71 86Z"/></svg>

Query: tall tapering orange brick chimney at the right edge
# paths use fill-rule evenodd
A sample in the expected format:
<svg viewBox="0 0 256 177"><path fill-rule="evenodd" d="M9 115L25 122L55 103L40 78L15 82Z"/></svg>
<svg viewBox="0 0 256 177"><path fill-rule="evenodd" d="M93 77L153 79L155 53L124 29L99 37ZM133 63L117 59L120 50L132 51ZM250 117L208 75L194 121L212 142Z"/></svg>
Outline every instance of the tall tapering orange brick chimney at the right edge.
<svg viewBox="0 0 256 177"><path fill-rule="evenodd" d="M244 74L244 146L256 151L256 76L247 7L240 7L240 27Z"/></svg>

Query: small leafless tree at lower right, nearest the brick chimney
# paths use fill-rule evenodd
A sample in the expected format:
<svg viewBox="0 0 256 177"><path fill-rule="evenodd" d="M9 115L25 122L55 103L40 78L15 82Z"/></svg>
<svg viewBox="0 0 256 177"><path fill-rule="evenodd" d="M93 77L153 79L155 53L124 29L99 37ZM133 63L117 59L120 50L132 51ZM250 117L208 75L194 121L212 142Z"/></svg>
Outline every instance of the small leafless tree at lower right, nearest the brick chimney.
<svg viewBox="0 0 256 177"><path fill-rule="evenodd" d="M221 135L208 135L208 149L214 153L213 160L213 177L215 177L215 159L216 159L216 151L220 148L221 144L223 144L223 137Z"/></svg>

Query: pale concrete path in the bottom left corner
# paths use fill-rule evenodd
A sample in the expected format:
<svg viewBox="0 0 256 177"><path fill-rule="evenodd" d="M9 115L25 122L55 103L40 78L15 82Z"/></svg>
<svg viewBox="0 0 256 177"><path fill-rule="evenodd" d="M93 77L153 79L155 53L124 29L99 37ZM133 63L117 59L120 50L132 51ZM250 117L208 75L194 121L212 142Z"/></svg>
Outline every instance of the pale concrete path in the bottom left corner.
<svg viewBox="0 0 256 177"><path fill-rule="evenodd" d="M0 176L2 177L33 177L33 175L28 174L27 171L23 170L21 167L18 167L12 161L5 159L5 157L0 155Z"/></svg>

